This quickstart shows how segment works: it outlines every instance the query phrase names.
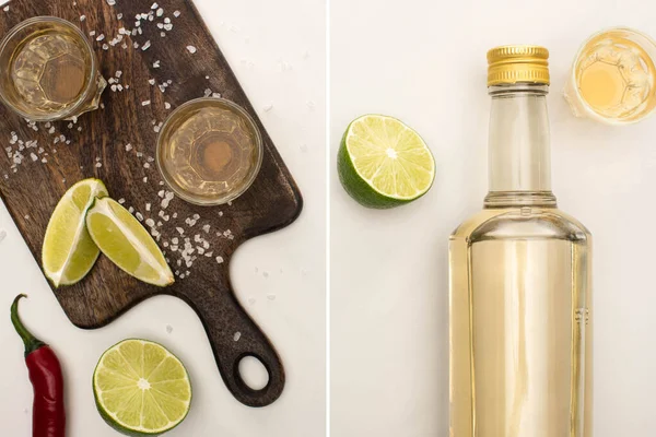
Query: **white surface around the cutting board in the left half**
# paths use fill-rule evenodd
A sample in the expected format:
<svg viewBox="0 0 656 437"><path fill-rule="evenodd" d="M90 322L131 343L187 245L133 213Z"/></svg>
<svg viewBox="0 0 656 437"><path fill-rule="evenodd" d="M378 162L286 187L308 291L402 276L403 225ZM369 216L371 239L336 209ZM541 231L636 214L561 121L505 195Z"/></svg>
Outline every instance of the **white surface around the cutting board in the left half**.
<svg viewBox="0 0 656 437"><path fill-rule="evenodd" d="M121 1L131 0L118 0L117 9ZM244 245L231 264L237 297L282 356L288 375L285 391L265 409L250 409L234 400L221 380L198 318L173 297L150 299L101 330L74 328L1 206L0 229L8 233L0 243L2 436L31 435L32 388L21 341L9 321L11 300L19 293L30 295L21 303L25 323L61 358L70 437L117 435L95 410L91 377L107 347L132 336L164 343L191 375L191 412L169 436L324 434L325 8L320 0L196 0L196 4L305 198L297 222ZM103 98L112 98L112 93ZM265 111L269 105L273 108ZM269 300L268 295L276 295L276 299ZM256 303L248 304L249 298ZM171 333L166 326L173 328Z"/></svg>

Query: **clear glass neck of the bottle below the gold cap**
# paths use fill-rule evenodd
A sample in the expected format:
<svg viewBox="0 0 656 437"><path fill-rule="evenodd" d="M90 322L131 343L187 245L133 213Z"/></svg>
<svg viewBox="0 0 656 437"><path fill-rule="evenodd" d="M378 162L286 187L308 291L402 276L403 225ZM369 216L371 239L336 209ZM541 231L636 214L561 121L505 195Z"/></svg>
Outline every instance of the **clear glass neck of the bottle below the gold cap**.
<svg viewBox="0 0 656 437"><path fill-rule="evenodd" d="M547 85L491 86L489 184L485 206L555 206Z"/></svg>

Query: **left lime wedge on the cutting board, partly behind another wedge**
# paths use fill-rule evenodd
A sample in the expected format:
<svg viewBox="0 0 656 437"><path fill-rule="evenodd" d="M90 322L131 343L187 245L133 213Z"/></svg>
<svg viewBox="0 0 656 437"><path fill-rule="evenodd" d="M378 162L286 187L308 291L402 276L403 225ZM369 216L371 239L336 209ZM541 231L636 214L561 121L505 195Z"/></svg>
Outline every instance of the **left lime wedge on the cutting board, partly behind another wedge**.
<svg viewBox="0 0 656 437"><path fill-rule="evenodd" d="M80 281L98 258L84 216L95 198L104 196L107 189L101 180L84 179L69 188L57 203L42 247L44 272L56 287Z"/></svg>

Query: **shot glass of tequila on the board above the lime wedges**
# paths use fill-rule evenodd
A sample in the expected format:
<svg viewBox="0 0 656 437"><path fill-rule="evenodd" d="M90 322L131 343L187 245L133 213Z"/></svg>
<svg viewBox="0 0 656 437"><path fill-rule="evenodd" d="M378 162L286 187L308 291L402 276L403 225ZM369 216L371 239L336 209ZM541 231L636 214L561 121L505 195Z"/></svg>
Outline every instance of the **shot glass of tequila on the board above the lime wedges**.
<svg viewBox="0 0 656 437"><path fill-rule="evenodd" d="M174 110L157 140L157 167L181 199L215 205L243 194L262 162L253 118L223 98L198 98Z"/></svg>

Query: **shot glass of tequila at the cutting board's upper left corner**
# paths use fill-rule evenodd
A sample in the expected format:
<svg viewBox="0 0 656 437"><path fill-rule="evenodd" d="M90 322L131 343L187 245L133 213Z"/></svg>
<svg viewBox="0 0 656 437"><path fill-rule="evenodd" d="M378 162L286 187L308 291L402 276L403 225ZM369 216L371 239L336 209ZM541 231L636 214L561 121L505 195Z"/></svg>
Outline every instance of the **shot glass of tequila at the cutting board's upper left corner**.
<svg viewBox="0 0 656 437"><path fill-rule="evenodd" d="M97 109L107 84L84 34L55 16L12 28L0 43L0 101L33 121Z"/></svg>

